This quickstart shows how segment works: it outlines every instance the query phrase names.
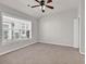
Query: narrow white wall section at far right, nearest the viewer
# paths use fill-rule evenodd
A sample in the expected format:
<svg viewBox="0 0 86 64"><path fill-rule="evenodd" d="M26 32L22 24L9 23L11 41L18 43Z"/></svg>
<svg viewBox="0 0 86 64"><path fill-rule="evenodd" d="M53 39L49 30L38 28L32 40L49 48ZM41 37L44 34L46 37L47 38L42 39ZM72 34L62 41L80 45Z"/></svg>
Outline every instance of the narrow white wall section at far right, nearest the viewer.
<svg viewBox="0 0 86 64"><path fill-rule="evenodd" d="M79 13L78 14L79 14L78 16L81 21L79 23L81 25L79 27L79 31L81 31L79 50L81 50L81 53L85 54L85 0L79 1Z"/></svg>

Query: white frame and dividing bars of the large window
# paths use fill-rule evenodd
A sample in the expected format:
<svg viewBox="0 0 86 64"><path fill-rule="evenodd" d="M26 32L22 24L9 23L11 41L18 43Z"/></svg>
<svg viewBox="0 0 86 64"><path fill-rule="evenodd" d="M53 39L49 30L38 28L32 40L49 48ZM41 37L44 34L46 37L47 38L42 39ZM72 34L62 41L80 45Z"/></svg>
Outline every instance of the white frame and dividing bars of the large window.
<svg viewBox="0 0 86 64"><path fill-rule="evenodd" d="M27 24L29 25L29 28L28 28L28 30L29 30L29 38L20 38L20 39L8 39L8 40L4 40L4 38L3 38L3 29L5 30L11 30L11 35L12 35L12 31L14 30L19 30L19 29L15 29L15 28L3 28L3 23L12 23L11 21L20 21L20 22L23 22L23 23L25 23L26 25L25 25L25 27L27 27ZM22 27L21 27L21 29L20 30L27 30L26 28L25 29L22 29ZM25 33L26 34L26 33ZM10 35L10 36L11 36ZM21 34L20 35L22 35L22 31L21 31ZM14 37L14 34L13 34L13 37ZM11 36L11 38L12 38L12 36ZM20 20L20 18L14 18L14 17L11 17L11 16L5 16L5 15L3 15L2 16L2 42L8 42L8 41L19 41L19 40L28 40L28 39L30 39L32 38L32 21L26 21L26 20Z"/></svg>

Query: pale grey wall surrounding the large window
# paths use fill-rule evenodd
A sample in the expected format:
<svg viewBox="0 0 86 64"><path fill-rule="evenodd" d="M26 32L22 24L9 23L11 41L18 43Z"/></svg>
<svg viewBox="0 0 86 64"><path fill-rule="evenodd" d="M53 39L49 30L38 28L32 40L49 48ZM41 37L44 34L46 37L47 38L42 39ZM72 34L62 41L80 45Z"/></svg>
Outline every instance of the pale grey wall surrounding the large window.
<svg viewBox="0 0 86 64"><path fill-rule="evenodd" d="M9 8L7 5L3 5L3 4L0 4L0 11L1 11L0 15L1 15L2 12L4 12L7 15L11 15L11 16L16 17L16 18L32 21L32 39L24 40L24 41L23 40L11 41L13 43L5 44L5 46L0 44L0 53L4 53L7 51L14 50L14 49L17 49L20 47L24 47L24 46L33 43L33 42L37 42L37 39L38 39L37 38L37 36L38 36L38 22L37 22L37 18L35 18L33 16L29 16L25 13L19 12L16 10L14 10L12 8ZM0 24L1 24L1 17L0 17ZM0 31L1 31L1 29L0 29ZM0 41L0 43L1 43L1 41Z"/></svg>

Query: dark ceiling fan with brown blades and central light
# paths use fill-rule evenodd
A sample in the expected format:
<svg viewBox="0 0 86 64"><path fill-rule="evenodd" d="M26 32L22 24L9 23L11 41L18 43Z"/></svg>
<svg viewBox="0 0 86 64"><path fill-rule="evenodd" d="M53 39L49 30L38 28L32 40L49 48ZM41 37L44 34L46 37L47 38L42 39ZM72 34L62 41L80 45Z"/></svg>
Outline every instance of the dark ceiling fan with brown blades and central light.
<svg viewBox="0 0 86 64"><path fill-rule="evenodd" d="M45 8L46 8L46 7L49 8L49 9L53 9L53 7L46 4L46 1L45 1L45 0L41 0L41 1L35 0L35 1L38 2L39 4L38 4L38 5L33 5L33 7L30 7L30 8L40 7L42 13L45 12ZM50 3L50 2L52 2L52 0L48 0L48 1L47 1L47 3ZM29 4L28 4L27 7L29 7Z"/></svg>

